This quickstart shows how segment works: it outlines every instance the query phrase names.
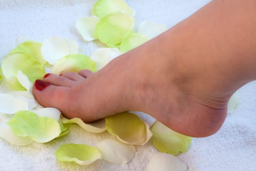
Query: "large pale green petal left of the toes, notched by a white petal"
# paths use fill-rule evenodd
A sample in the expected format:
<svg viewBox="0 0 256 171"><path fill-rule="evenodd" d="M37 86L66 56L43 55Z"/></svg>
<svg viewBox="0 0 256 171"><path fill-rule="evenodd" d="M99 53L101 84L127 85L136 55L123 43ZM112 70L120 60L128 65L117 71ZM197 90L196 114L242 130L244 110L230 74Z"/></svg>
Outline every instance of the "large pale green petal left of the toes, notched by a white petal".
<svg viewBox="0 0 256 171"><path fill-rule="evenodd" d="M26 53L12 53L2 60L2 72L8 84L15 90L25 90L17 79L17 72L21 70L31 83L45 75L42 64Z"/></svg>

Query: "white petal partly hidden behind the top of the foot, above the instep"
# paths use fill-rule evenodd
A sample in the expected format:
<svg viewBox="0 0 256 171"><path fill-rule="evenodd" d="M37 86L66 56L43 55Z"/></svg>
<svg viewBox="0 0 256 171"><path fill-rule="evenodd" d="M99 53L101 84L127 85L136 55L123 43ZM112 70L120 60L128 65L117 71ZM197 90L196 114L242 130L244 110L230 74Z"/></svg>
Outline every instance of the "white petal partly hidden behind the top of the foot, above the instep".
<svg viewBox="0 0 256 171"><path fill-rule="evenodd" d="M96 69L99 70L121 54L117 48L100 47L93 52L91 59L96 62Z"/></svg>

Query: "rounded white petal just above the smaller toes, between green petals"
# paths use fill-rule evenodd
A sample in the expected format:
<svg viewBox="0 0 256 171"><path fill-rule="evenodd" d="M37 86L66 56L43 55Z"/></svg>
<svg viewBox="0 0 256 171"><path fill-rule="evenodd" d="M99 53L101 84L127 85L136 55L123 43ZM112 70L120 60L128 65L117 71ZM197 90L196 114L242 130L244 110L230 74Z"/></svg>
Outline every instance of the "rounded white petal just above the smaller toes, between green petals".
<svg viewBox="0 0 256 171"><path fill-rule="evenodd" d="M69 43L59 37L50 37L42 42L41 55L49 64L69 55Z"/></svg>

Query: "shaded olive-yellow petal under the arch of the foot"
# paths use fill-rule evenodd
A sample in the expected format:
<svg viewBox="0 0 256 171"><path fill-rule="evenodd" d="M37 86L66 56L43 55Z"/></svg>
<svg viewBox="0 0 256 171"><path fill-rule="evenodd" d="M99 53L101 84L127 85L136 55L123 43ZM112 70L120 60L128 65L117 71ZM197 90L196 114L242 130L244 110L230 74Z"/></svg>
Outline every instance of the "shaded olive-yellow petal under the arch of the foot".
<svg viewBox="0 0 256 171"><path fill-rule="evenodd" d="M145 123L135 114L122 112L105 118L107 131L123 143L140 145L147 141Z"/></svg>

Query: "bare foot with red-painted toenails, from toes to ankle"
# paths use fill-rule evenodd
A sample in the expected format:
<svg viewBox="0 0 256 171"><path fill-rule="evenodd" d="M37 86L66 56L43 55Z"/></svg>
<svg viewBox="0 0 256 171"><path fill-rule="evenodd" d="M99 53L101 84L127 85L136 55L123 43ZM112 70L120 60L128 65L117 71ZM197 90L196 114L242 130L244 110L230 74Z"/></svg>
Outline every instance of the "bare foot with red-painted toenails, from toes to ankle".
<svg viewBox="0 0 256 171"><path fill-rule="evenodd" d="M114 59L96 73L47 74L35 82L34 95L42 106L56 107L66 117L85 122L135 110L182 134L211 135L224 122L232 94L218 96L213 78L200 76L200 65L177 60L170 47L162 48L168 52L159 51L158 42L165 34L169 33Z"/></svg>

